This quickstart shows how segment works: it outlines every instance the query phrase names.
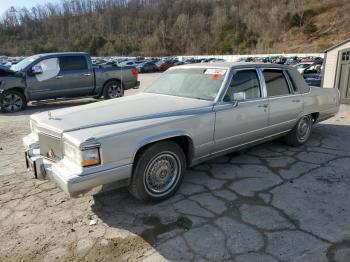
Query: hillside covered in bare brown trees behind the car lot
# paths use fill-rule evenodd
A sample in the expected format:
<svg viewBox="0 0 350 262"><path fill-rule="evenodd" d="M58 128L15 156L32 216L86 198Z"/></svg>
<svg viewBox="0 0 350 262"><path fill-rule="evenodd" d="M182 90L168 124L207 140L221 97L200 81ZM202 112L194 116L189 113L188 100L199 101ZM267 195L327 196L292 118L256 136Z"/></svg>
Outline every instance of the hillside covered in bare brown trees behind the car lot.
<svg viewBox="0 0 350 262"><path fill-rule="evenodd" d="M322 52L347 38L348 0L62 0L0 21L7 55Z"/></svg>

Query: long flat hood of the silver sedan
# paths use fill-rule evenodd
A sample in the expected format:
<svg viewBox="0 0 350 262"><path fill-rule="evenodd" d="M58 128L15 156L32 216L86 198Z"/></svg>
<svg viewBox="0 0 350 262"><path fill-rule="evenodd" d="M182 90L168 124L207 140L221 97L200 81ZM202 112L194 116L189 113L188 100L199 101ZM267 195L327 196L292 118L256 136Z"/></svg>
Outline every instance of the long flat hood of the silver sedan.
<svg viewBox="0 0 350 262"><path fill-rule="evenodd" d="M169 119L213 106L212 101L140 93L88 105L41 112L31 116L39 131L52 135L136 121ZM117 131L117 130L116 130Z"/></svg>

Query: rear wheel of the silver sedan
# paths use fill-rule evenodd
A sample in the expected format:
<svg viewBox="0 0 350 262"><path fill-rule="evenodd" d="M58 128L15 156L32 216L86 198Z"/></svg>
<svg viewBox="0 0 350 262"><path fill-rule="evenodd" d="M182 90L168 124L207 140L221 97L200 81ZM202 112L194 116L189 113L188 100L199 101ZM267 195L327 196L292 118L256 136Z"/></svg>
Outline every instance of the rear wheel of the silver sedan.
<svg viewBox="0 0 350 262"><path fill-rule="evenodd" d="M286 136L285 141L290 146L301 146L307 142L312 130L311 115L303 116Z"/></svg>

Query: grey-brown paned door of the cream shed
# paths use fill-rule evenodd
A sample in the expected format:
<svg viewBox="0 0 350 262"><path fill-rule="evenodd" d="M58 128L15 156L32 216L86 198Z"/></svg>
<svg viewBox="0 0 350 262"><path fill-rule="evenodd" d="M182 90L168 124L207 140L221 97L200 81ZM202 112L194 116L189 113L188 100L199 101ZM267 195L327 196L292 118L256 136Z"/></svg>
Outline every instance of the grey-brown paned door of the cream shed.
<svg viewBox="0 0 350 262"><path fill-rule="evenodd" d="M350 104L350 49L341 51L338 88L341 102Z"/></svg>

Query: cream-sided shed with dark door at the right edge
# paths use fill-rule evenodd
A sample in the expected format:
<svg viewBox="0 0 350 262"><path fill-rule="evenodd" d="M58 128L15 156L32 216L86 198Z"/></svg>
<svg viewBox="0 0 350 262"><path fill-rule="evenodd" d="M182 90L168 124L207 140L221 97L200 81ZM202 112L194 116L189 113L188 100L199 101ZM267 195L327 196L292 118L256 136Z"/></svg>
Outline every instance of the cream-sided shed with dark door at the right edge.
<svg viewBox="0 0 350 262"><path fill-rule="evenodd" d="M350 38L325 51L321 86L338 88L341 102L350 104Z"/></svg>

